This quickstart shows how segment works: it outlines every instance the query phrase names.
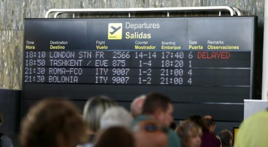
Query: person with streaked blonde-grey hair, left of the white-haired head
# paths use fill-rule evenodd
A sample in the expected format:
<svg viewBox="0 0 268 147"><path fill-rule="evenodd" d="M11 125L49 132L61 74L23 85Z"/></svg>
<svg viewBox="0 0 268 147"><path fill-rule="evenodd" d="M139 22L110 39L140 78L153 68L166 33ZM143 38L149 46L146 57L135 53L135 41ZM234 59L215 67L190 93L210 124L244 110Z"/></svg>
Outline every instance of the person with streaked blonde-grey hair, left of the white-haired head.
<svg viewBox="0 0 268 147"><path fill-rule="evenodd" d="M106 96L96 96L88 99L84 106L83 117L89 126L89 140L87 144L78 147L92 147L95 134L100 130L100 119L102 114L116 102Z"/></svg>

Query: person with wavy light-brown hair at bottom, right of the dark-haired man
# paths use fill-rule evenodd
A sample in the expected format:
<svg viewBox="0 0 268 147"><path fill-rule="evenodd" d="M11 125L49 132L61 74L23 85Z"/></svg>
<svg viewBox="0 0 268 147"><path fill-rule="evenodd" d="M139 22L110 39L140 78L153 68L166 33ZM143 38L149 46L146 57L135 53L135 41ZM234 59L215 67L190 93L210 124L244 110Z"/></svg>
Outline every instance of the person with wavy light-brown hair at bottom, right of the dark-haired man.
<svg viewBox="0 0 268 147"><path fill-rule="evenodd" d="M175 131L181 138L182 147L201 147L202 129L196 123L183 121Z"/></svg>

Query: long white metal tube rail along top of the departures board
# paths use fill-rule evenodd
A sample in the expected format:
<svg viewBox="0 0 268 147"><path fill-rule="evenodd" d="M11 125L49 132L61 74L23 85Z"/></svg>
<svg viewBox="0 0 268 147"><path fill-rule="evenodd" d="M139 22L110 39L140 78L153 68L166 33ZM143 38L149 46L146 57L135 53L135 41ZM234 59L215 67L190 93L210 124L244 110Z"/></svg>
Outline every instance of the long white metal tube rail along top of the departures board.
<svg viewBox="0 0 268 147"><path fill-rule="evenodd" d="M219 16L221 16L221 11L229 11L230 16L238 15L241 16L241 12L237 8L229 6L205 6L205 7L167 7L167 8L116 8L116 9L49 9L45 13L45 18L48 18L50 13L56 12L54 18L63 13L116 13L125 12L131 17L132 12L167 12L167 17L169 17L170 12L178 11L219 11ZM74 16L74 15L73 15Z"/></svg>

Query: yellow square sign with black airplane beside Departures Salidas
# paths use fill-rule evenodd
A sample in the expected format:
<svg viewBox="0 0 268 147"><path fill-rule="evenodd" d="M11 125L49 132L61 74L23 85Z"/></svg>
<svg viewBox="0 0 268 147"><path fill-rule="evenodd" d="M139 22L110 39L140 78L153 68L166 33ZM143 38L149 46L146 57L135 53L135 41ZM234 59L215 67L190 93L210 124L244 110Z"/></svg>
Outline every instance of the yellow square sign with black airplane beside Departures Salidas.
<svg viewBox="0 0 268 147"><path fill-rule="evenodd" d="M122 39L123 24L109 23L108 25L108 39Z"/></svg>

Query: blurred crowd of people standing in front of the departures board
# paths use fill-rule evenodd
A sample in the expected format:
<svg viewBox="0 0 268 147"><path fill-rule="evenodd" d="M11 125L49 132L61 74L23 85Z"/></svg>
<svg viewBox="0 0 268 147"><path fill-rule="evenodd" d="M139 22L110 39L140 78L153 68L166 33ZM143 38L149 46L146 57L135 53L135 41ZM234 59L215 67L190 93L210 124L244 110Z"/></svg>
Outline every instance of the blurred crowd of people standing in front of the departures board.
<svg viewBox="0 0 268 147"><path fill-rule="evenodd" d="M130 111L119 106L111 98L98 96L89 98L82 116L70 101L44 99L34 105L23 119L21 145L22 147L233 146L233 134L229 130L214 134L216 123L212 116L190 116L176 126L172 116L174 111L172 101L164 95L150 93L135 98ZM1 120L2 118L0 123ZM235 147L265 147L253 144L237 145ZM5 146L2 141L0 147L12 146Z"/></svg>

